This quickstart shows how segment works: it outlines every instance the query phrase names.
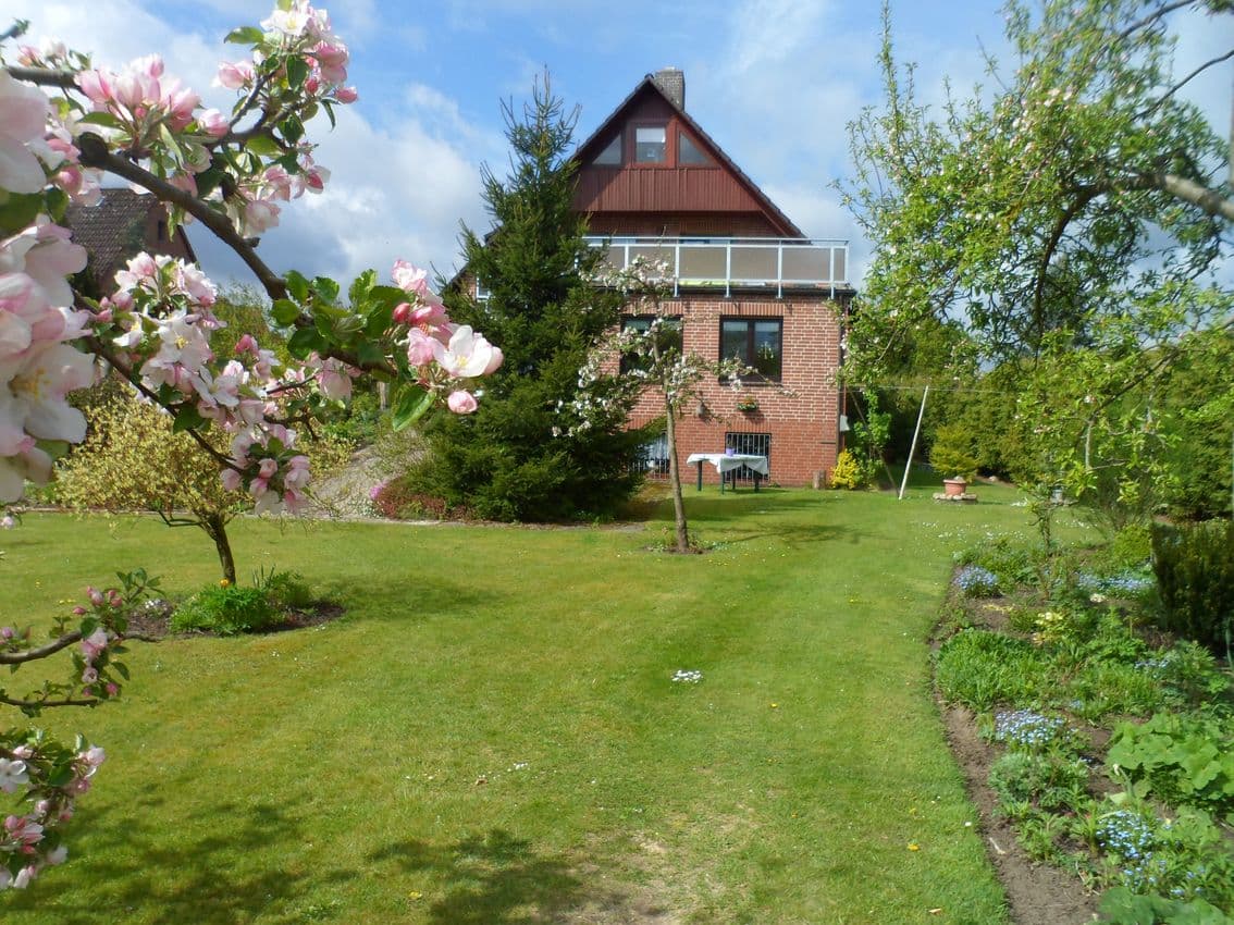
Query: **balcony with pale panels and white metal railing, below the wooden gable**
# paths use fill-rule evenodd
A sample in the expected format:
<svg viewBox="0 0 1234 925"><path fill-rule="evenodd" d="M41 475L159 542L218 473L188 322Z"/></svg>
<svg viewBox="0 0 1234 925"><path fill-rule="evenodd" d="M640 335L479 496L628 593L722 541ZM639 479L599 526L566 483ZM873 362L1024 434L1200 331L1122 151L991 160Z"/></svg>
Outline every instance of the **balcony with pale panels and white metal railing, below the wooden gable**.
<svg viewBox="0 0 1234 925"><path fill-rule="evenodd" d="M664 260L674 295L685 290L848 289L848 242L805 238L602 238L587 243L607 248L608 263L622 270L636 258Z"/></svg>

